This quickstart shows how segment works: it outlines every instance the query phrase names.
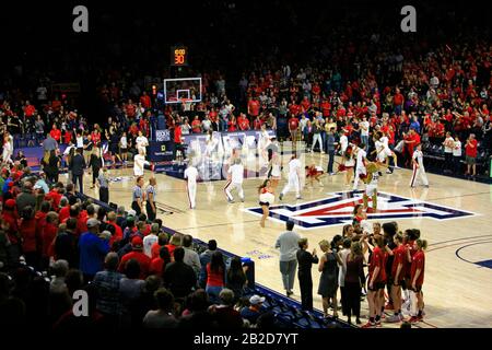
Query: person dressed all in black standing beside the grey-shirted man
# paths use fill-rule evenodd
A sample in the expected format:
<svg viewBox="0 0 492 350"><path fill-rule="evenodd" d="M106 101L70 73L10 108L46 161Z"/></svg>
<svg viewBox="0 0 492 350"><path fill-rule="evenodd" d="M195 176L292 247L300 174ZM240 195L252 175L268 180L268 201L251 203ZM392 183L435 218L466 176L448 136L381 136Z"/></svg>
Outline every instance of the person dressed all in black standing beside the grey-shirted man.
<svg viewBox="0 0 492 350"><path fill-rule="evenodd" d="M301 238L298 241L300 249L297 250L297 277L301 287L302 308L313 311L313 278L311 276L311 269L313 264L318 264L319 259L316 256L316 249L311 254L307 252L307 238Z"/></svg>

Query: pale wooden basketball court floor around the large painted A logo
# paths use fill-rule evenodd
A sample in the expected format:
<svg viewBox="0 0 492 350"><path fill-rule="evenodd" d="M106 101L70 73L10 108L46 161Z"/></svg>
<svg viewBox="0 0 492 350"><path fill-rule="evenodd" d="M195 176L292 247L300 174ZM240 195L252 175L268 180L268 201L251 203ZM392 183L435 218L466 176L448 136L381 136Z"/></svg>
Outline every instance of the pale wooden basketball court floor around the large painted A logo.
<svg viewBox="0 0 492 350"><path fill-rule="evenodd" d="M327 158L318 153L308 153L305 155L305 162L326 168ZM121 180L110 184L110 201L125 205L126 208L130 207L131 189L134 185L131 175L131 168L109 171L110 177L122 177ZM151 173L145 171L145 178L149 176ZM330 198L331 192L348 190L343 186L343 174L327 176L324 178L324 187L317 184L313 187L304 187L302 200L296 202L294 194L291 192L285 196L283 203L302 205ZM398 221L400 230L420 229L422 237L430 244L426 252L423 287L426 315L424 323L419 323L418 326L423 328L492 327L491 186L427 174L430 188L411 189L410 176L409 170L398 170L395 174L383 176L378 189L407 199L472 213L441 221L425 217L386 220ZM257 186L261 183L260 178L246 179L245 202L236 201L232 205L225 199L224 180L201 183L197 189L197 209L189 210L184 180L163 174L156 174L155 177L157 202L173 211L172 214L160 215L166 226L191 234L204 242L215 238L221 248L251 257L256 264L256 281L283 293L278 262L279 253L273 246L277 236L284 230L284 223L270 219L267 226L261 229L259 217L245 210L258 207ZM85 192L97 198L96 192L89 189L91 178L89 175L84 177ZM284 184L285 178L281 180L278 191ZM276 205L278 203L277 201ZM377 221L385 222L383 219ZM330 225L311 230L296 228L295 230L309 240L309 249L316 247L319 252L317 243L321 240L330 241L333 235L341 234L342 226ZM477 262L482 262L483 266ZM317 308L321 308L321 299L316 294L319 275L317 267L314 266L313 292ZM297 281L293 298L301 299ZM362 306L362 314L366 315L367 303L364 301ZM396 325L384 324L383 327L396 327Z"/></svg>

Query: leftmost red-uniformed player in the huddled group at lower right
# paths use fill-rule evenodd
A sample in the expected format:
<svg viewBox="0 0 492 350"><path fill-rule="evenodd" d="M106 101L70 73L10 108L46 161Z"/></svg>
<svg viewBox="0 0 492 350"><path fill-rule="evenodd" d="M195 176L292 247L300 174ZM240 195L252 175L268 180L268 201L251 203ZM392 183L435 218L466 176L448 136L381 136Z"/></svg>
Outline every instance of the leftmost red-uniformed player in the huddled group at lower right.
<svg viewBox="0 0 492 350"><path fill-rule="evenodd" d="M379 293L384 290L386 284L386 271L385 271L385 241L382 235L374 236L373 238L376 247L371 255L370 261L370 276L367 280L367 302L370 307L370 320L362 328L380 327L380 298Z"/></svg>

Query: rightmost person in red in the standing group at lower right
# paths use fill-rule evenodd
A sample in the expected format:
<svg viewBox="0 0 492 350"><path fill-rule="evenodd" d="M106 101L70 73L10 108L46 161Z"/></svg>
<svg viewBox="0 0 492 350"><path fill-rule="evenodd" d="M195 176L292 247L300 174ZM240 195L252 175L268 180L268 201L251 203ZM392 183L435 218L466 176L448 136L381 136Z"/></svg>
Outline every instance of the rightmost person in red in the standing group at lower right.
<svg viewBox="0 0 492 350"><path fill-rule="evenodd" d="M417 240L413 244L413 248L415 254L412 257L411 272L410 272L410 289L415 293L417 296L417 310L418 314L412 315L410 317L410 322L419 322L423 318L423 294L422 294L422 284L424 281L424 271L425 271L425 254L424 250L427 248L427 241L425 240Z"/></svg>

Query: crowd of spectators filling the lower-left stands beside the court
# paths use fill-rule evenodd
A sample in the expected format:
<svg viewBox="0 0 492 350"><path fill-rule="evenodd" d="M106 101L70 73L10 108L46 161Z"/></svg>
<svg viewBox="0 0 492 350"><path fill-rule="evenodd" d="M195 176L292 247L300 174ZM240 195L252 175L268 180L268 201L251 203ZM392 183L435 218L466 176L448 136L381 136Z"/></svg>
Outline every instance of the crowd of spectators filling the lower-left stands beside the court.
<svg viewBox="0 0 492 350"><path fill-rule="evenodd" d="M263 298L244 294L247 267L214 240L203 248L190 235L167 234L162 220L98 206L71 183L48 188L19 162L1 173L2 327L277 325ZM78 317L81 291L89 296L86 317Z"/></svg>

